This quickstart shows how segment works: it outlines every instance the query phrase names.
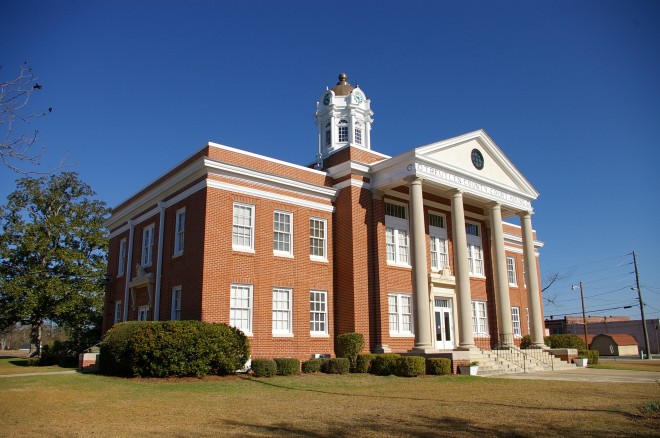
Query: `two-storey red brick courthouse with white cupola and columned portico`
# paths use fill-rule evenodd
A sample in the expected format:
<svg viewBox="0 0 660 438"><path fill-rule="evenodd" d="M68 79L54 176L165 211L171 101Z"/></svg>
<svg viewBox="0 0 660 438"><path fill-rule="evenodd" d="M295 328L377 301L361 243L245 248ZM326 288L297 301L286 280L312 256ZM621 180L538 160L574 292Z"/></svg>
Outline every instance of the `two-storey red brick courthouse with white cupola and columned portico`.
<svg viewBox="0 0 660 438"><path fill-rule="evenodd" d="M253 357L302 360L345 332L372 352L542 345L536 190L481 130L376 152L370 104L340 75L311 165L209 143L117 206L104 330L224 322Z"/></svg>

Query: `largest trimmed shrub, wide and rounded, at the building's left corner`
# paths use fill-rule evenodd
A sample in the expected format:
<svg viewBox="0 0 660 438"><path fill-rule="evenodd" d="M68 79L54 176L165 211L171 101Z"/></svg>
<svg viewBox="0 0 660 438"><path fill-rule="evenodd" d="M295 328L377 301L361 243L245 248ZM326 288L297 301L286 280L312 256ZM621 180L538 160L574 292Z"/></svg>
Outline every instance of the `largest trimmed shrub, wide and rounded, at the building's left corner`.
<svg viewBox="0 0 660 438"><path fill-rule="evenodd" d="M231 374L250 356L240 330L202 321L115 324L101 343L99 371L116 376Z"/></svg>

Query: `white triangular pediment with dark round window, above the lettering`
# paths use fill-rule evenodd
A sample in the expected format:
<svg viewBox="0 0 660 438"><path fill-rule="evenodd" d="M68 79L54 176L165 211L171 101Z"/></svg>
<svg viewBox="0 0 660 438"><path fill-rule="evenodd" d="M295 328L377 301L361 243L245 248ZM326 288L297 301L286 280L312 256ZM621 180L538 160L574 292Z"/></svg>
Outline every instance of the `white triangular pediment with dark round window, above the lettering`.
<svg viewBox="0 0 660 438"><path fill-rule="evenodd" d="M483 130L416 148L415 159L530 200L538 197L536 189Z"/></svg>

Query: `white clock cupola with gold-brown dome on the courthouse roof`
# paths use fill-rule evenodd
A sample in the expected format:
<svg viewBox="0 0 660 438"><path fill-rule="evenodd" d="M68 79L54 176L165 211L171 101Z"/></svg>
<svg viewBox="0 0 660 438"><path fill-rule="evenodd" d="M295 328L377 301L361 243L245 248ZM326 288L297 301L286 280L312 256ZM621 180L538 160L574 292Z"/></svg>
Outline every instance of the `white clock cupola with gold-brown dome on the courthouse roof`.
<svg viewBox="0 0 660 438"><path fill-rule="evenodd" d="M317 158L323 159L348 146L371 149L372 115L371 101L364 92L357 84L349 84L345 73L340 74L337 85L324 91L316 103Z"/></svg>

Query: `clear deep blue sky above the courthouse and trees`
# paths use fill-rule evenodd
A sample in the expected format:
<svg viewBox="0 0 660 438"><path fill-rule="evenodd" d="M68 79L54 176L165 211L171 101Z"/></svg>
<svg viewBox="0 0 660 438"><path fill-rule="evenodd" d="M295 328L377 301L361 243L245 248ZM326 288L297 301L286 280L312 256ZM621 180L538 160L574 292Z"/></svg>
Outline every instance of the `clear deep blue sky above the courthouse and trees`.
<svg viewBox="0 0 660 438"><path fill-rule="evenodd" d="M28 61L43 166L115 206L208 141L307 164L340 72L397 155L483 128L541 193L546 315L660 317L660 1L29 1L0 5L2 78ZM0 168L0 197L17 175ZM611 309L599 311L600 309Z"/></svg>

